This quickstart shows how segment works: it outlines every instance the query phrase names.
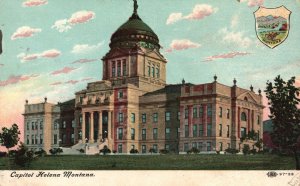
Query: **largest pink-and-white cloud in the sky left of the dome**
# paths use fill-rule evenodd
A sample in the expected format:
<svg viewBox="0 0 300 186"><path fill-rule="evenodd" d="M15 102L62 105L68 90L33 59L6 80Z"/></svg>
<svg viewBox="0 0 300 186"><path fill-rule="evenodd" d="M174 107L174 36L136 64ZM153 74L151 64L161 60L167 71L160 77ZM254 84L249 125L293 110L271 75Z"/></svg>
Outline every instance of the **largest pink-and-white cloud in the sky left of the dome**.
<svg viewBox="0 0 300 186"><path fill-rule="evenodd" d="M86 23L94 19L95 16L96 14L92 11L78 11L73 13L69 19L61 19L55 21L54 25L52 25L51 28L55 28L59 32L66 32L77 24Z"/></svg>

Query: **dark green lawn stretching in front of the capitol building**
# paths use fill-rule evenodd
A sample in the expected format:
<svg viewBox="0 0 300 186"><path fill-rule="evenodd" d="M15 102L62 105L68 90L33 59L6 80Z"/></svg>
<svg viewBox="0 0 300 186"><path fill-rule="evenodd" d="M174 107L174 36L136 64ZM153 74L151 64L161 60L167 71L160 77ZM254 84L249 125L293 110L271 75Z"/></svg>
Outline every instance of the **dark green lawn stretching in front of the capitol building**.
<svg viewBox="0 0 300 186"><path fill-rule="evenodd" d="M292 170L293 157L278 155L45 156L20 168L0 158L0 169L30 170Z"/></svg>

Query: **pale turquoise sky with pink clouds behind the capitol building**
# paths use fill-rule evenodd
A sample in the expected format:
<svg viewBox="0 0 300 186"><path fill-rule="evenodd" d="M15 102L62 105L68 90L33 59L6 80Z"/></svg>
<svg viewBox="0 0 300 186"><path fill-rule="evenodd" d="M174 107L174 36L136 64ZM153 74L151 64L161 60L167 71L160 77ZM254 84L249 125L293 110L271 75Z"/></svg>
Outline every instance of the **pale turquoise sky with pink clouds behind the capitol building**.
<svg viewBox="0 0 300 186"><path fill-rule="evenodd" d="M138 14L160 39L167 83L213 81L257 93L277 75L300 86L300 0L138 0ZM274 49L255 31L260 6L292 13ZM110 37L133 12L132 0L0 0L0 127L23 131L25 100L57 103L102 79ZM267 100L264 97L264 104ZM268 109L264 119L268 118ZM22 139L22 135L21 135Z"/></svg>

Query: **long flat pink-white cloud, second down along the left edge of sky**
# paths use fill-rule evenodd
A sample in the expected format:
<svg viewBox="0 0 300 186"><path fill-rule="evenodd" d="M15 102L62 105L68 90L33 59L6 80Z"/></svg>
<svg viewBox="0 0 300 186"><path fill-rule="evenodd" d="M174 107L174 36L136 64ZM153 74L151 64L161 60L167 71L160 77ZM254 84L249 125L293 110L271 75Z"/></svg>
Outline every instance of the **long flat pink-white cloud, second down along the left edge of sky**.
<svg viewBox="0 0 300 186"><path fill-rule="evenodd" d="M34 54L25 54L20 53L17 55L17 58L21 59L22 63L25 63L27 61L32 61L32 60L36 60L38 58L56 58L61 54L61 52L59 50L56 49L51 49L51 50L46 50L42 53L34 53Z"/></svg>

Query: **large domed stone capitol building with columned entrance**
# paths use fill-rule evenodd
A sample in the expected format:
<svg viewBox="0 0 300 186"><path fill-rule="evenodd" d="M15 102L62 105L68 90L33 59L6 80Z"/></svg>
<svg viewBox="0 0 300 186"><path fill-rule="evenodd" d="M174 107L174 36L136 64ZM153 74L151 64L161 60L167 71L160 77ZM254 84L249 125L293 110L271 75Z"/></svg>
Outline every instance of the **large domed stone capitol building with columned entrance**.
<svg viewBox="0 0 300 186"><path fill-rule="evenodd" d="M128 21L112 34L101 81L63 103L26 101L25 145L85 154L99 153L104 145L119 154L252 148L256 141L241 138L251 131L262 138L261 92L240 88L235 79L223 85L216 75L208 83L167 84L159 38L137 10L135 2Z"/></svg>

